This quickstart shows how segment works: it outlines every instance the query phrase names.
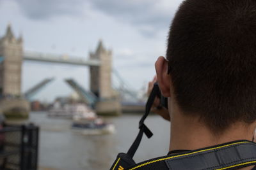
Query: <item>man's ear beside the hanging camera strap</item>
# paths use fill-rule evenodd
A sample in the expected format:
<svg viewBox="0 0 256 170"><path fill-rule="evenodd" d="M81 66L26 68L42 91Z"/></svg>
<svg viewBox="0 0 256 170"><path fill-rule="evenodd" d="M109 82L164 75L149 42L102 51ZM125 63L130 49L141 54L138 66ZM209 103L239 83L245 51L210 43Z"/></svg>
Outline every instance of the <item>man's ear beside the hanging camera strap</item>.
<svg viewBox="0 0 256 170"><path fill-rule="evenodd" d="M158 57L156 64L156 75L159 89L164 97L170 97L170 76L168 72L168 61L164 57Z"/></svg>

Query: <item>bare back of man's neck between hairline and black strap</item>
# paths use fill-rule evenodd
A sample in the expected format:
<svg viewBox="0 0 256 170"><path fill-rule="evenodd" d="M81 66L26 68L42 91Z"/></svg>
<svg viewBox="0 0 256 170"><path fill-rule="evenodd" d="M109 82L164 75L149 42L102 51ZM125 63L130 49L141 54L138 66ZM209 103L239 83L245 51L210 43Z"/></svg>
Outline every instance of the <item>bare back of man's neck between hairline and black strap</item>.
<svg viewBox="0 0 256 170"><path fill-rule="evenodd" d="M237 122L220 135L214 135L198 118L173 113L171 123L171 150L196 150L230 141L246 139L252 141L254 126Z"/></svg>

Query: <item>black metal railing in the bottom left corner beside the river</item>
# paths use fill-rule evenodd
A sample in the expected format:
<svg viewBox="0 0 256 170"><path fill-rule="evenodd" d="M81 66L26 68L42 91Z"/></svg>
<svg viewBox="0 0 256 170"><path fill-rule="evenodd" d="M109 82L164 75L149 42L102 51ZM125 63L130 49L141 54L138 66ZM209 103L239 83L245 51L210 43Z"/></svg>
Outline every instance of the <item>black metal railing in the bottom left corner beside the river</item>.
<svg viewBox="0 0 256 170"><path fill-rule="evenodd" d="M39 128L29 125L4 125L0 130L0 169L36 170Z"/></svg>

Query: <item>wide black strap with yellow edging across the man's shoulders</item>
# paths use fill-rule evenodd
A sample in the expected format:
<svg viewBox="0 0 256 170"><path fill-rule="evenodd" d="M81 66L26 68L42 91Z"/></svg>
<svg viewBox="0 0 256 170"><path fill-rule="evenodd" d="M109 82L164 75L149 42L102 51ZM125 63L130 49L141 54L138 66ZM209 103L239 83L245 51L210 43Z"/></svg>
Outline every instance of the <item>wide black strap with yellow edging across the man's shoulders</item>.
<svg viewBox="0 0 256 170"><path fill-rule="evenodd" d="M234 141L222 145L147 160L127 169L211 170L239 169L256 164L256 143Z"/></svg>

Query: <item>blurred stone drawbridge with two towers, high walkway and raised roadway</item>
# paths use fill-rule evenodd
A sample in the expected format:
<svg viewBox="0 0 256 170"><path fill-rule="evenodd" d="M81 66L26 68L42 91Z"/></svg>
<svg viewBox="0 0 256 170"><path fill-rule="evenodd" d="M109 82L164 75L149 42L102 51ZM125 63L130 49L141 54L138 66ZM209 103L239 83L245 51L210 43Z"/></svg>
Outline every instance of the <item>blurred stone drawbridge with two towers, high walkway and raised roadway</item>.
<svg viewBox="0 0 256 170"><path fill-rule="evenodd" d="M90 104L95 106L98 113L119 114L121 111L120 97L118 92L116 92L111 85L111 50L106 50L102 45L102 41L100 41L96 51L91 52L89 56L89 59L85 60L82 57L24 51L22 37L15 38L11 26L8 25L6 34L0 38L0 96L22 96L20 85L22 81L21 72L23 60L88 66L90 67L90 91L88 93L81 89L81 86L77 85L73 80L66 80L67 83L74 90L80 90L84 98L86 99L87 97ZM40 85L30 89L25 95L32 95L49 81L51 81L51 79L42 81ZM88 96L91 97L88 98ZM0 100L0 108L2 106L1 111L11 109L4 109L1 103L6 103L6 101L3 102L3 100L4 99ZM22 101L24 102L23 99ZM28 104L26 104L26 109L28 109L27 105Z"/></svg>

